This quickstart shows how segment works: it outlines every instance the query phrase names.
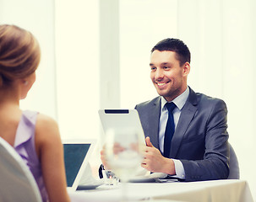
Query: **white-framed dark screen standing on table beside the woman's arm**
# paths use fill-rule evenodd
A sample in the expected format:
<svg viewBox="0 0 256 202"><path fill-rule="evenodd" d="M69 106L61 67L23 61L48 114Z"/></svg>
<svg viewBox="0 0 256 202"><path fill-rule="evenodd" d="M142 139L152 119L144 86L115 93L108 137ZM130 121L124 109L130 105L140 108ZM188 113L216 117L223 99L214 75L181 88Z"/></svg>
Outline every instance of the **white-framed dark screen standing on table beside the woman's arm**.
<svg viewBox="0 0 256 202"><path fill-rule="evenodd" d="M95 148L95 140L63 141L67 189L75 191Z"/></svg>

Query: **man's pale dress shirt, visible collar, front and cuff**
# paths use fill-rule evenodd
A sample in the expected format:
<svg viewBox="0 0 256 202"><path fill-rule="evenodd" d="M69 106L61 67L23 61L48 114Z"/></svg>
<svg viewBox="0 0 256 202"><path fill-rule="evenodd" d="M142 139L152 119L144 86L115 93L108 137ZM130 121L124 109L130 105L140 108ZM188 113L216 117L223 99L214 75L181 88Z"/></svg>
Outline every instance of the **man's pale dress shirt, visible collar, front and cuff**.
<svg viewBox="0 0 256 202"><path fill-rule="evenodd" d="M181 95L179 95L177 98L172 100L172 102L177 106L172 111L175 129L177 127L177 122L181 115L181 110L188 99L188 95L189 95L189 88L187 87L187 89ZM166 99L161 97L161 114L160 114L160 122L159 122L159 145L162 153L164 151L166 123L168 120L168 109L166 109L166 106L165 106L166 103L167 103ZM172 159L172 160L175 164L175 171L176 171L176 175L173 177L182 178L182 179L185 178L185 172L184 172L184 167L182 165L182 162L177 159Z"/></svg>

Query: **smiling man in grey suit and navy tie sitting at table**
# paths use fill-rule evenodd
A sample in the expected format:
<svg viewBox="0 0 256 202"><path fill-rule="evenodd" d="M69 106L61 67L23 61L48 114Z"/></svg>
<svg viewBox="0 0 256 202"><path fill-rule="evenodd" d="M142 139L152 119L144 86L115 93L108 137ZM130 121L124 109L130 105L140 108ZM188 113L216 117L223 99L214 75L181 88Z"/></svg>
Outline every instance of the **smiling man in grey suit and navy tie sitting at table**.
<svg viewBox="0 0 256 202"><path fill-rule="evenodd" d="M177 39L161 40L151 50L150 69L160 96L135 107L146 136L141 166L183 181L227 178L226 104L188 87L187 45ZM106 165L104 151L101 160Z"/></svg>

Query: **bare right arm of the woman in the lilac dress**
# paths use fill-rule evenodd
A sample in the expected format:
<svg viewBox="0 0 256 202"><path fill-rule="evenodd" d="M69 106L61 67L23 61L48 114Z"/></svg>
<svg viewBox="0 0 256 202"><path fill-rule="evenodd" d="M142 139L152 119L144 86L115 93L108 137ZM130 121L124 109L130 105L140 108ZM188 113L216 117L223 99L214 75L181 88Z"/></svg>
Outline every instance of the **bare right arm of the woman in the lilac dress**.
<svg viewBox="0 0 256 202"><path fill-rule="evenodd" d="M35 125L35 149L50 202L70 201L64 168L63 143L57 122L38 114Z"/></svg>

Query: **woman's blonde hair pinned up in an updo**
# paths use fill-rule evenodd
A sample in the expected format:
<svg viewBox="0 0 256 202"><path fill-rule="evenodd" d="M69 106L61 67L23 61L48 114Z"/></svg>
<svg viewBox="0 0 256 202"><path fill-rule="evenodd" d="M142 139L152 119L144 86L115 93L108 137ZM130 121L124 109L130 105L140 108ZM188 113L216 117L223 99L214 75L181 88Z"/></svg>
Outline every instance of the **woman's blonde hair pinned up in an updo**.
<svg viewBox="0 0 256 202"><path fill-rule="evenodd" d="M35 72L41 58L38 41L27 30L0 25L0 88Z"/></svg>

